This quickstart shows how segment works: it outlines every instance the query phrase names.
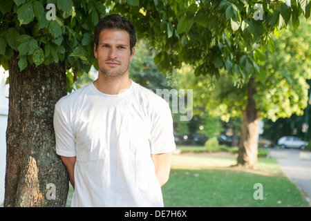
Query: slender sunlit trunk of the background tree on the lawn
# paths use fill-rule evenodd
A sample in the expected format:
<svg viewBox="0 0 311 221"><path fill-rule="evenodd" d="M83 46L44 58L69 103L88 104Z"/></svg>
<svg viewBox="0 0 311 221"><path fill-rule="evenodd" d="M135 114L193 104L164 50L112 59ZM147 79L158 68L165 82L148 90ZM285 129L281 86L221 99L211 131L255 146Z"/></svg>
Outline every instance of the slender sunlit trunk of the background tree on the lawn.
<svg viewBox="0 0 311 221"><path fill-rule="evenodd" d="M249 79L247 84L247 106L243 112L241 139L238 145L238 165L256 169L258 153L258 121L259 113L253 95L255 79Z"/></svg>

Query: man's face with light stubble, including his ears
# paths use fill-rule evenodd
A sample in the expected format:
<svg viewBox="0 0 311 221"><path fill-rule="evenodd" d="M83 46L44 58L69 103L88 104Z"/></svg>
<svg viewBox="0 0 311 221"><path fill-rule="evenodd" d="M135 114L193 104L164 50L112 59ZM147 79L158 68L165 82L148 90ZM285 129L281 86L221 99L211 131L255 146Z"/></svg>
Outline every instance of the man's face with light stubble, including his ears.
<svg viewBox="0 0 311 221"><path fill-rule="evenodd" d="M129 33L125 30L104 29L100 32L97 49L94 45L94 55L104 77L128 75L134 54L135 48L131 53Z"/></svg>

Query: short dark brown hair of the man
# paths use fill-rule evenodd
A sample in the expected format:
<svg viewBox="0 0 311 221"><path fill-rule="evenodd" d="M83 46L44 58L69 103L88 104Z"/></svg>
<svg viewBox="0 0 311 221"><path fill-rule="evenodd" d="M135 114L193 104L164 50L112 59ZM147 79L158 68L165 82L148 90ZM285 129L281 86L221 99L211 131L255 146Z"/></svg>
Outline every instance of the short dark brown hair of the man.
<svg viewBox="0 0 311 221"><path fill-rule="evenodd" d="M119 29L128 32L130 38L130 50L132 53L132 49L136 44L137 38L135 27L133 26L133 23L129 21L129 19L126 19L126 17L122 17L118 14L107 15L106 17L100 19L100 21L97 23L97 26L95 26L94 42L96 44L96 49L99 43L98 41L100 41L100 32L102 32L104 29Z"/></svg>

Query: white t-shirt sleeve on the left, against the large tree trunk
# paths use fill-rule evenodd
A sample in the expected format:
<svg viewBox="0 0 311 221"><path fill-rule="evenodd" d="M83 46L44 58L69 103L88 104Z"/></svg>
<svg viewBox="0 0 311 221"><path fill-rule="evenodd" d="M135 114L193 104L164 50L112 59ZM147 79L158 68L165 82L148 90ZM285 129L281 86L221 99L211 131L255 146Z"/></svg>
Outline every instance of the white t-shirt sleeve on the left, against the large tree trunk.
<svg viewBox="0 0 311 221"><path fill-rule="evenodd" d="M68 116L66 116L66 111L62 110L59 103L55 106L53 123L56 139L56 153L64 157L75 157L75 135L70 126Z"/></svg>

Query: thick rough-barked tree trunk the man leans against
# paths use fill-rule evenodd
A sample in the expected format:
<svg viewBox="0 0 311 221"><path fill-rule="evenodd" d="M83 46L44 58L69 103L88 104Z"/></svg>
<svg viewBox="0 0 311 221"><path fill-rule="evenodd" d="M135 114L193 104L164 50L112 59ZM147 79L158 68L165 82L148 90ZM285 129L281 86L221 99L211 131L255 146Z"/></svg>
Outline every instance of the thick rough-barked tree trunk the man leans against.
<svg viewBox="0 0 311 221"><path fill-rule="evenodd" d="M17 62L9 61L4 206L65 206L68 174L55 152L53 115L66 95L66 69L60 63L28 64L20 71Z"/></svg>

